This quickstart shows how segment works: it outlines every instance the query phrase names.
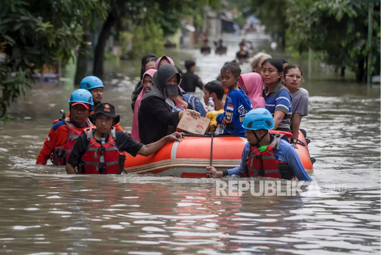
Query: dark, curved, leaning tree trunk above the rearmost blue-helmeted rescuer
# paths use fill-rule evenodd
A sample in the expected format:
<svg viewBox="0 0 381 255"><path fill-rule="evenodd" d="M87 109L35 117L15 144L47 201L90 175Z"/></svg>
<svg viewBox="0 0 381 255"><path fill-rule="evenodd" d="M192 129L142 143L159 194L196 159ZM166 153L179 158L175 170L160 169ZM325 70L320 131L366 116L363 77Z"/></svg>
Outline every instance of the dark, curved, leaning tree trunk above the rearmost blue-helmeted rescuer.
<svg viewBox="0 0 381 255"><path fill-rule="evenodd" d="M93 75L97 77L103 76L103 61L104 61L104 48L106 47L106 42L110 37L111 28L117 22L118 16L117 11L114 8L111 10L107 16L106 21L103 23L102 31L99 33L98 42L94 50L94 63L93 63Z"/></svg>

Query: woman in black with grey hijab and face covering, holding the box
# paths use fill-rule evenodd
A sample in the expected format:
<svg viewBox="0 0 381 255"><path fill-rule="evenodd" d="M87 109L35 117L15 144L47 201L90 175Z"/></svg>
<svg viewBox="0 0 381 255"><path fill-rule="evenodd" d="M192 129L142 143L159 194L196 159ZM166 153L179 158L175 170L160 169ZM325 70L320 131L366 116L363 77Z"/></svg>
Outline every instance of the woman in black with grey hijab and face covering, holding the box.
<svg viewBox="0 0 381 255"><path fill-rule="evenodd" d="M200 113L194 110L173 112L174 102L169 98L179 94L180 74L176 67L164 64L152 77L152 86L147 88L138 110L139 137L141 143L158 141L175 129L185 111L194 118Z"/></svg>

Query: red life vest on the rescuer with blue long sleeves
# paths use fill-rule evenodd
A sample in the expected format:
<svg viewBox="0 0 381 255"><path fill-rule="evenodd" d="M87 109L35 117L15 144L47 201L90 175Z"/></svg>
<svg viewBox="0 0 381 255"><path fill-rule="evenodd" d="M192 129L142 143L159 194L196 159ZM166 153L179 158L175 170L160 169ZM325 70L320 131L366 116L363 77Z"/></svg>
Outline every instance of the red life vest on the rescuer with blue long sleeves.
<svg viewBox="0 0 381 255"><path fill-rule="evenodd" d="M244 177L262 176L288 180L295 177L287 162L277 160L273 152L274 148L279 150L280 139L283 135L275 134L270 145L262 152L256 146L250 146L247 169L243 171Z"/></svg>

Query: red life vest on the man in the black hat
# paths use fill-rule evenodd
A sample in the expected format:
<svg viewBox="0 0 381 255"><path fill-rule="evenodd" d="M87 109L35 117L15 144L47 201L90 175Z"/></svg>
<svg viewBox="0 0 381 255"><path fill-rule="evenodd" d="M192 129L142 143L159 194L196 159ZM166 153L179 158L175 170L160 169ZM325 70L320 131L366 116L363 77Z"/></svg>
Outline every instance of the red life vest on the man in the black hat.
<svg viewBox="0 0 381 255"><path fill-rule="evenodd" d="M87 136L89 146L82 156L82 164L79 167L80 174L120 174L124 170L126 157L120 153L115 144L115 128L110 130L109 138L101 145L94 138L94 128L83 130ZM100 163L101 153L104 163Z"/></svg>

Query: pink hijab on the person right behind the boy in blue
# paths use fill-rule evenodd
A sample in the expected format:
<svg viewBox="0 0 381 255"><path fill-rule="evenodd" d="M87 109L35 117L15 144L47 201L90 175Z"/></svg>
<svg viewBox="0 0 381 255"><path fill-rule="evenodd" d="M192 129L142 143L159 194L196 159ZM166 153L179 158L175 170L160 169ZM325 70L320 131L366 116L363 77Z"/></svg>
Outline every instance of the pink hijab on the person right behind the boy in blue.
<svg viewBox="0 0 381 255"><path fill-rule="evenodd" d="M266 103L262 96L263 80L259 73L245 73L240 75L238 85L242 87L245 84L247 96L250 98L253 109L265 108Z"/></svg>

